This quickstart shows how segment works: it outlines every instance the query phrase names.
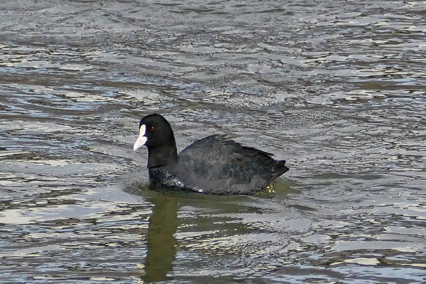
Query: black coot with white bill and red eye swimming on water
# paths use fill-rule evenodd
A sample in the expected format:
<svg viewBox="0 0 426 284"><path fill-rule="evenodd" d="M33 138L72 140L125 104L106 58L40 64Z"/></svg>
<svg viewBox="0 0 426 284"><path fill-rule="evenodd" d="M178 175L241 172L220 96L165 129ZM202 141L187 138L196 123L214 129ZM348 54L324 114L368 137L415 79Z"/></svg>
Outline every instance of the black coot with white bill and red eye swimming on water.
<svg viewBox="0 0 426 284"><path fill-rule="evenodd" d="M148 148L148 171L153 190L166 188L214 195L253 195L288 171L285 160L241 146L224 135L195 141L179 153L175 136L160 114L145 116L133 146Z"/></svg>

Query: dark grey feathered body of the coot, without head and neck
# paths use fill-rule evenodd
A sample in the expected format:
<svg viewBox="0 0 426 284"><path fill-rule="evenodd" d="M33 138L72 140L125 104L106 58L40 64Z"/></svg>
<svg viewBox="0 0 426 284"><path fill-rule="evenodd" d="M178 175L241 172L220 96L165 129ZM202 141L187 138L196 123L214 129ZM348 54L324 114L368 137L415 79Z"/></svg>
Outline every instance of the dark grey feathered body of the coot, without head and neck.
<svg viewBox="0 0 426 284"><path fill-rule="evenodd" d="M271 156L225 136L212 135L180 152L178 163L170 171L190 190L248 195L265 189L288 170L285 160Z"/></svg>

